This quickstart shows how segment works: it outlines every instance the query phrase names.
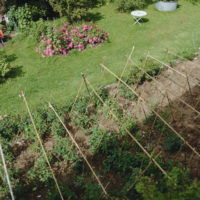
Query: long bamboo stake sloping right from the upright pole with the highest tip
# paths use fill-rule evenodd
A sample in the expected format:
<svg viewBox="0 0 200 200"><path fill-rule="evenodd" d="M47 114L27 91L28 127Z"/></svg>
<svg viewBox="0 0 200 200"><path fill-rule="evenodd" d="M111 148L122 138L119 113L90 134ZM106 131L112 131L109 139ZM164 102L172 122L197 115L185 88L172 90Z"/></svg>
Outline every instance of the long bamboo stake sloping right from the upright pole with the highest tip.
<svg viewBox="0 0 200 200"><path fill-rule="evenodd" d="M165 86L160 83L159 81L157 81L153 76L149 75L147 72L145 72L142 68L138 67L132 60L131 60L132 64L134 64L139 70L141 70L142 72L144 72L147 76L149 76L152 80L154 80L157 84L161 85L164 90L166 92L169 92L172 96L174 96L175 98L177 98L179 101L181 101L183 104L185 104L187 107L189 107L191 110L193 110L194 112L196 112L198 115L200 115L200 112L198 110L196 110L194 107L192 107L190 104L186 103L184 100L182 100L180 97L176 97L172 92L170 92L167 88L165 88ZM158 90L161 92L162 95L163 92L158 88Z"/></svg>

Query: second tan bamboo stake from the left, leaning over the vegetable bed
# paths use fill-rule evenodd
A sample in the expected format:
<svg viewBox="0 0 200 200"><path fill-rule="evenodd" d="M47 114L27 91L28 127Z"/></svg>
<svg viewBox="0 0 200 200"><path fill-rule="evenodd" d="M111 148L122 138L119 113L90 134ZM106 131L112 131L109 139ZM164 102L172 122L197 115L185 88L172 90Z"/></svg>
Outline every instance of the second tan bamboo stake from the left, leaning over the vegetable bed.
<svg viewBox="0 0 200 200"><path fill-rule="evenodd" d="M67 129L67 127L65 126L65 124L63 123L63 121L61 120L60 116L58 115L58 113L55 111L54 107L51 105L51 103L49 103L49 107L54 111L56 117L58 118L58 120L60 121L60 123L63 125L64 129L66 130L66 132L68 133L69 137L71 138L72 142L75 144L75 146L77 147L77 149L79 150L81 156L83 157L83 159L85 160L85 162L87 163L88 167L90 168L90 170L92 171L94 177L96 178L99 186L102 188L104 194L106 196L108 196L108 193L106 192L104 186L102 185L101 181L99 180L98 176L96 175L96 173L94 172L92 166L90 165L89 161L87 160L86 156L83 154L81 148L79 147L78 143L75 141L73 135L71 134L71 132Z"/></svg>

